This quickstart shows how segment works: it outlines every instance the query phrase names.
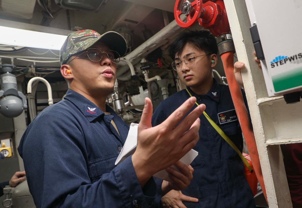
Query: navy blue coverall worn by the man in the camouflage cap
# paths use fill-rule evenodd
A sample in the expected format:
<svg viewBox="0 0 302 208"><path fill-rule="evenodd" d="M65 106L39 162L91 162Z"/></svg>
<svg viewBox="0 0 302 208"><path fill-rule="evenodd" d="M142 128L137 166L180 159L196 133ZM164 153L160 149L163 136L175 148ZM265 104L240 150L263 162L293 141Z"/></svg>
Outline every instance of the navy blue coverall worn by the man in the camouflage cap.
<svg viewBox="0 0 302 208"><path fill-rule="evenodd" d="M142 189L131 157L114 165L129 126L109 106L106 111L111 115L68 90L63 101L47 107L30 123L18 151L37 208L153 203L157 193L153 178Z"/></svg>

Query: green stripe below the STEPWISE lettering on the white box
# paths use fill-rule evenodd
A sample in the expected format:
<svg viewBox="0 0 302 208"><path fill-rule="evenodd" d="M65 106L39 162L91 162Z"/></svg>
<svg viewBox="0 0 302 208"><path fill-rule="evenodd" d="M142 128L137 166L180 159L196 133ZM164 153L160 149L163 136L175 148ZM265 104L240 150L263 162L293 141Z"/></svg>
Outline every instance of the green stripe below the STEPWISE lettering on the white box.
<svg viewBox="0 0 302 208"><path fill-rule="evenodd" d="M276 92L302 86L302 67L272 76Z"/></svg>

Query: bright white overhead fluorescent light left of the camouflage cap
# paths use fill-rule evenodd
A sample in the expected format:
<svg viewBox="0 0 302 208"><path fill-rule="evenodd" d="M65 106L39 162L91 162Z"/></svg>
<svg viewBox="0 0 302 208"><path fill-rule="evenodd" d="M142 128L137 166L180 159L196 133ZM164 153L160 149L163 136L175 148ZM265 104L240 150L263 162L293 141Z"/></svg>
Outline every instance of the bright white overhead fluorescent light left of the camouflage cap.
<svg viewBox="0 0 302 208"><path fill-rule="evenodd" d="M0 44L60 50L66 35L42 33L0 26Z"/></svg>

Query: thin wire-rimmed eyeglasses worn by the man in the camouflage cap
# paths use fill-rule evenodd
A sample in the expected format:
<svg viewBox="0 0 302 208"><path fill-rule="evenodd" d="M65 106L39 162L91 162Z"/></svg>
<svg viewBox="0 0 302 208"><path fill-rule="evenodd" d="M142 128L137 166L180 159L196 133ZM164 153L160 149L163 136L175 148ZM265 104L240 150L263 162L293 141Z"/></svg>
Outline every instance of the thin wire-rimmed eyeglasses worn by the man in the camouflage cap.
<svg viewBox="0 0 302 208"><path fill-rule="evenodd" d="M88 48L87 50L83 51L76 57L81 56L83 53L87 53L87 56L91 61L100 61L103 58L103 53L106 53L107 57L110 59L111 62L113 63L120 62L120 54L114 50L107 50L101 48ZM74 57L73 59L75 59L76 57ZM69 64L73 59L71 59L67 64Z"/></svg>

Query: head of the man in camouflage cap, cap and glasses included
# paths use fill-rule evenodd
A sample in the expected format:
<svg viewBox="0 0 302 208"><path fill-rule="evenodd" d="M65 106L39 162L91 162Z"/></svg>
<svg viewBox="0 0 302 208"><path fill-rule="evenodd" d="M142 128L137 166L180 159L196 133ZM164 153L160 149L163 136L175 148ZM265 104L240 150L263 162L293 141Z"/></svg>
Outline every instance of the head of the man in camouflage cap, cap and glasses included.
<svg viewBox="0 0 302 208"><path fill-rule="evenodd" d="M60 50L61 74L69 89L84 97L100 93L107 97L116 80L116 63L126 51L126 40L117 32L72 32ZM101 110L105 112L105 103Z"/></svg>

